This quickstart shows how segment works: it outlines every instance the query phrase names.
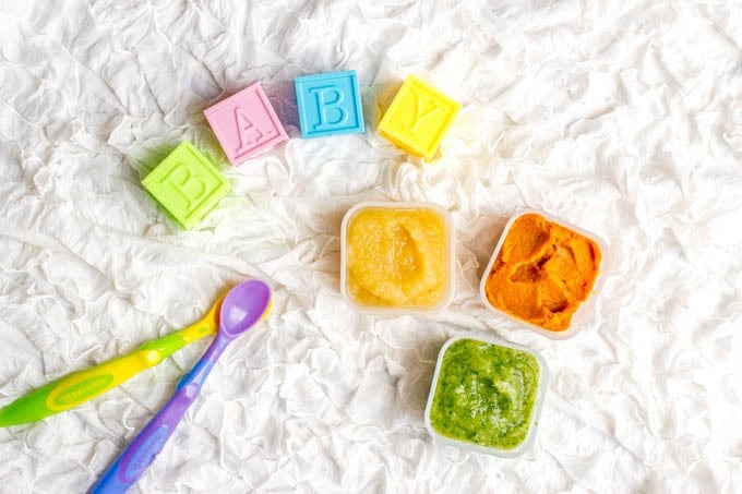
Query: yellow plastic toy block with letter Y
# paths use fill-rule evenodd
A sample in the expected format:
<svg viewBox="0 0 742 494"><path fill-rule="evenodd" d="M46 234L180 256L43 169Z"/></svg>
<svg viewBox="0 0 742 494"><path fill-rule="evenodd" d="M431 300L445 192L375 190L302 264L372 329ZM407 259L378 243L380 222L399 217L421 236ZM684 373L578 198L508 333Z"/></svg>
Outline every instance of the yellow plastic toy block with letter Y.
<svg viewBox="0 0 742 494"><path fill-rule="evenodd" d="M430 160L462 106L410 75L394 97L379 132L397 146Z"/></svg>

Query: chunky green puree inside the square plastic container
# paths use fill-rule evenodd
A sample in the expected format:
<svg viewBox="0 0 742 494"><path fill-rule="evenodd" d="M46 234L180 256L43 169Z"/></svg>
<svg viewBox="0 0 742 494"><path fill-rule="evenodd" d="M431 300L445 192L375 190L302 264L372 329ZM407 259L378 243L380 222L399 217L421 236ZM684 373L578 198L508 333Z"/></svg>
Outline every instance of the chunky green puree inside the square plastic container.
<svg viewBox="0 0 742 494"><path fill-rule="evenodd" d="M530 353L459 339L443 356L430 423L453 439L512 449L528 434L538 381Z"/></svg>

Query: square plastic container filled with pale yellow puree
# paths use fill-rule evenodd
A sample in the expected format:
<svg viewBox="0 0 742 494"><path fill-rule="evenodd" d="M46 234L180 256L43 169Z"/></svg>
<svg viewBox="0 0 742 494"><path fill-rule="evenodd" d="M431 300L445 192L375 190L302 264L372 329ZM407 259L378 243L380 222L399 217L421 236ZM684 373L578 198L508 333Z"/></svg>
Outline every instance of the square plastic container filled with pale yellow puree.
<svg viewBox="0 0 742 494"><path fill-rule="evenodd" d="M345 215L340 285L366 313L443 309L453 298L454 231L434 204L362 203Z"/></svg>

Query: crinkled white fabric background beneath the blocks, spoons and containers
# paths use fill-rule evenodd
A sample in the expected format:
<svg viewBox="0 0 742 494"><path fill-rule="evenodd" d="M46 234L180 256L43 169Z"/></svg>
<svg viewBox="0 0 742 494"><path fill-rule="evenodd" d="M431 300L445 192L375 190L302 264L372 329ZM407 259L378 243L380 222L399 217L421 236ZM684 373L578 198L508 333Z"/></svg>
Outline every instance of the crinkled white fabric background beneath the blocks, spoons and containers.
<svg viewBox="0 0 742 494"><path fill-rule="evenodd" d="M0 1L0 405L198 320L251 276L235 342L134 492L742 490L742 9L656 0ZM299 138L295 76L358 71L368 132ZM375 132L407 74L464 108L421 165ZM260 81L291 140L230 168L203 109ZM140 180L191 140L232 192L191 231ZM355 315L339 226L367 200L456 224L454 302ZM596 316L552 341L486 310L507 217L594 231ZM532 451L436 446L434 360L462 330L542 352ZM0 491L83 492L206 341L74 411L0 430Z"/></svg>

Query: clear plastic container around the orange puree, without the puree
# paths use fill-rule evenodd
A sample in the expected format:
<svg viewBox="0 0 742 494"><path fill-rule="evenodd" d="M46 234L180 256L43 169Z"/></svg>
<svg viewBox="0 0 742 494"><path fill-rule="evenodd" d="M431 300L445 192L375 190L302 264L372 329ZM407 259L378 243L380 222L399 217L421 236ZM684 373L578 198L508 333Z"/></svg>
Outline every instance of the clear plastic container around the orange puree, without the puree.
<svg viewBox="0 0 742 494"><path fill-rule="evenodd" d="M505 238L507 237L507 233L510 232L511 227L513 224L522 216L524 215L529 215L529 214L535 214L542 216L544 219L548 221L554 222L556 225L560 225L564 228L567 228L572 231L575 231L590 240L593 240L595 243L598 244L600 248L600 265L598 267L598 275L595 279L595 282L593 284L593 291L587 297L587 299L579 304L575 313L572 315L572 321L570 322L570 327L562 330L562 332L555 332L555 330L550 330L550 329L544 329L541 326L538 326L536 324L532 324L528 321L520 320L518 317L513 316L512 314L508 314L504 311L501 311L500 309L495 308L490 303L490 301L487 299L487 292L486 292L486 285L487 285L487 278L490 276L490 272L492 270L492 266L494 265L494 262L498 258L498 255L500 255L500 250L502 249L502 245L505 241ZM585 323L590 320L590 317L594 315L594 299L596 293L600 291L602 288L602 284L606 278L606 273L608 272L608 268L610 266L610 255L608 252L608 246L606 245L606 242L602 241L599 237L595 236L594 233L590 233L589 231L585 231L582 228L569 224L566 221L563 221L559 218L555 218L551 215L548 215L543 212L537 210L537 209L520 209L514 214L511 219L507 221L505 225L505 228L502 231L502 234L500 236L500 241L498 242L498 245L494 248L494 252L492 253L492 257L490 257L490 262L487 264L487 268L484 269L484 273L482 274L482 279L481 282L479 284L479 294L481 297L482 303L490 308L492 311L496 312L498 314L502 314L505 317L515 321L520 324L525 324L526 326L530 327L531 329L535 329L536 332L540 333L543 336L547 336L552 339L566 339L573 337L577 332L579 332Z"/></svg>

